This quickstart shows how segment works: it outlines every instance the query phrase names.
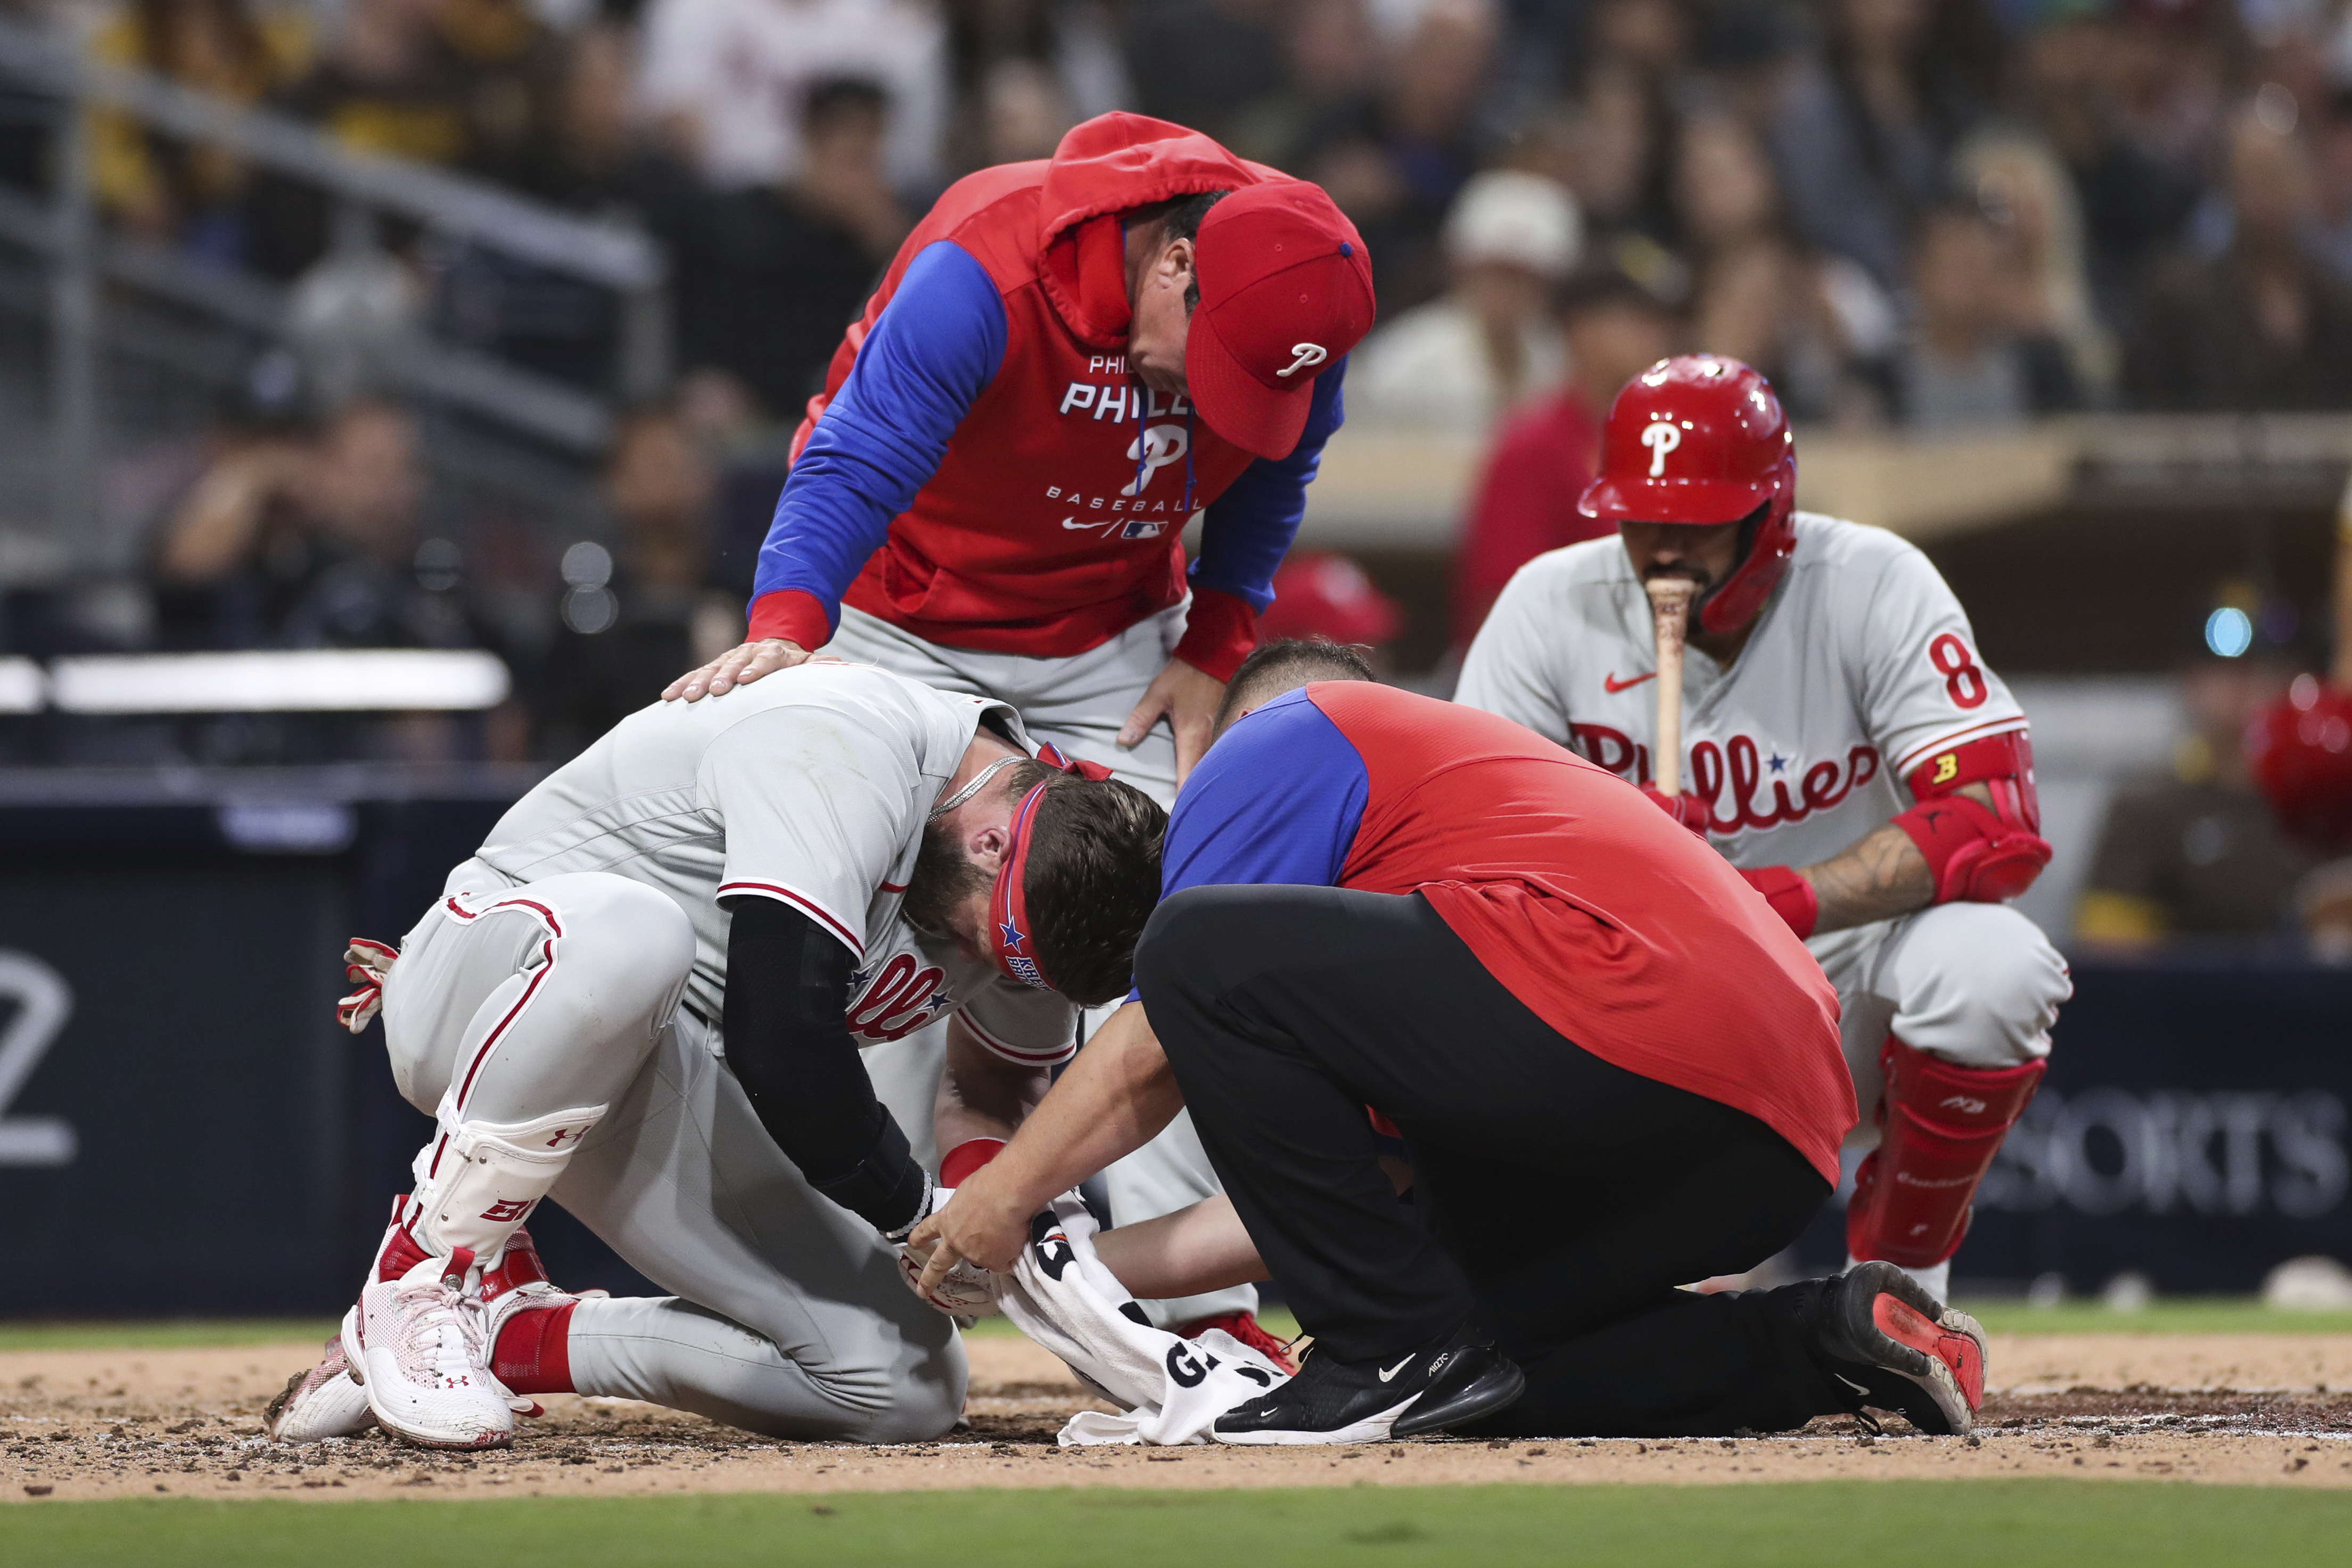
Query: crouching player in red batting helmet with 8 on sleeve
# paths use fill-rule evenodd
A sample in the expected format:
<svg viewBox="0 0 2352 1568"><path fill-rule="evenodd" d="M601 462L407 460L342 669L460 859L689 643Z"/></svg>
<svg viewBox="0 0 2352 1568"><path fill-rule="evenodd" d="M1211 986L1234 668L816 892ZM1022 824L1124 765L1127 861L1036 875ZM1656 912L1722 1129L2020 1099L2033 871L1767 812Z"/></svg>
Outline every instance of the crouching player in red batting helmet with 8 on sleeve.
<svg viewBox="0 0 2352 1568"><path fill-rule="evenodd" d="M1795 510L1795 440L1736 360L1661 360L1609 411L1588 517L1618 524L1510 581L1456 701L1651 785L1646 583L1696 585L1682 792L1651 797L1743 870L1837 985L1856 1128L1853 1260L1938 1298L1969 1201L2042 1081L2072 994L2006 907L2049 863L2025 712L1929 559Z"/></svg>

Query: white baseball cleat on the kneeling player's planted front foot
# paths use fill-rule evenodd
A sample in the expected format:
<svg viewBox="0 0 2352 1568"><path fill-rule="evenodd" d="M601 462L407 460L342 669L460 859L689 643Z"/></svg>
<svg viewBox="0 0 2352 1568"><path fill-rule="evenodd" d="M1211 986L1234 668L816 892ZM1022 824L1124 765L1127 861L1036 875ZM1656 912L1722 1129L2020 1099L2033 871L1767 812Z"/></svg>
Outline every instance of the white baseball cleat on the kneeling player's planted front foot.
<svg viewBox="0 0 2352 1568"><path fill-rule="evenodd" d="M489 1333L473 1251L423 1258L397 1279L360 1291L343 1316L343 1359L367 1387L367 1408L419 1448L503 1448L515 1410L489 1371Z"/></svg>

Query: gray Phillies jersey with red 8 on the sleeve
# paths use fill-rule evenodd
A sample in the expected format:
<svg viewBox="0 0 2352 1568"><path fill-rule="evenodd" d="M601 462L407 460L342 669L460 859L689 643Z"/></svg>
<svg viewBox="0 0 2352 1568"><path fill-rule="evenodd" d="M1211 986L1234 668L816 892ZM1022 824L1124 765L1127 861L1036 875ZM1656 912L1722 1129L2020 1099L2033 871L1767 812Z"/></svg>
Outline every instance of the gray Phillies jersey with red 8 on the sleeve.
<svg viewBox="0 0 2352 1568"><path fill-rule="evenodd" d="M1696 618L1696 616L1693 616ZM1538 555L1496 599L1454 701L1653 783L1658 635L1613 534ZM1884 529L1797 512L1788 576L1731 668L1682 665L1682 788L1733 865L1813 865L1910 806L1936 752L2025 729L1936 567Z"/></svg>

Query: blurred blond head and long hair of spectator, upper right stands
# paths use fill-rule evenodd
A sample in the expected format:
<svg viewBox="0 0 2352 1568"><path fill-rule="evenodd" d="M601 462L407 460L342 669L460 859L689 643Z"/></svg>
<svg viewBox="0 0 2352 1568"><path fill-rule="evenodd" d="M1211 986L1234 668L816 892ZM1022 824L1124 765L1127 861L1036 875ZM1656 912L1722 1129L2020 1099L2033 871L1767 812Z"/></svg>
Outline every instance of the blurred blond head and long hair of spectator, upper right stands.
<svg viewBox="0 0 2352 1568"><path fill-rule="evenodd" d="M2023 339L2056 339L2084 402L2114 390L2114 334L2091 303L2082 202L2046 141L2016 129L1971 136L1955 160L1959 183L2009 230L2004 317Z"/></svg>

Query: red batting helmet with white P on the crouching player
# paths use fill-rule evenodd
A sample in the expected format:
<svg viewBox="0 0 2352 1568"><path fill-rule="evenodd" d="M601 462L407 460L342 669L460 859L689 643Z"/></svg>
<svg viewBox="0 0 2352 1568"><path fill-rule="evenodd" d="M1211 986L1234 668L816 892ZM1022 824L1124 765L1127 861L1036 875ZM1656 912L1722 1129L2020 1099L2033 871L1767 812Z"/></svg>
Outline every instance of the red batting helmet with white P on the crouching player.
<svg viewBox="0 0 2352 1568"><path fill-rule="evenodd" d="M1698 623L1733 632L1764 609L1797 548L1797 440L1771 383L1738 360L1675 355L1625 383L1602 433L1602 475L1576 510L1602 522L1738 522L1740 564L1698 602Z"/></svg>

